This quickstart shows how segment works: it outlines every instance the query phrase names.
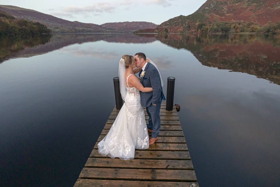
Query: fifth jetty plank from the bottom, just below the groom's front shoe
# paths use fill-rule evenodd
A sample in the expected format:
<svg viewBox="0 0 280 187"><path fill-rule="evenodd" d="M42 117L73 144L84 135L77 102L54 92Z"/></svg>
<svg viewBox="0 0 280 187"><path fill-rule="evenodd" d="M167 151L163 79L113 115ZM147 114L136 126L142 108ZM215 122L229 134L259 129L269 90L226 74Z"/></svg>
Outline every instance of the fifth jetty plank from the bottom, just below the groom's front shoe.
<svg viewBox="0 0 280 187"><path fill-rule="evenodd" d="M97 141L95 143L94 149L98 149ZM136 149L139 150L139 149ZM141 149L140 149L141 150ZM187 151L188 146L186 143L157 143L155 142L153 145L150 145L149 148L145 150L153 150L153 151L162 151L162 150L169 150L169 151Z"/></svg>

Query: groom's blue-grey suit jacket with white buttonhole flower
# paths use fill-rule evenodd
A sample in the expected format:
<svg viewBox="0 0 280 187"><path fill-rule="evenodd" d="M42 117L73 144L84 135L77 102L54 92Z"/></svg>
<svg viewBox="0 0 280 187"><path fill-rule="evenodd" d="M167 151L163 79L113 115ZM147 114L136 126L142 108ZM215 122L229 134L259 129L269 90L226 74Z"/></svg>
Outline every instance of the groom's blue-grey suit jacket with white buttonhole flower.
<svg viewBox="0 0 280 187"><path fill-rule="evenodd" d="M146 73L142 79L140 77L142 70L139 72L141 84L144 87L153 88L153 92L140 91L141 104L143 107L148 107L152 103L157 104L158 102L161 102L162 99L165 100L165 97L162 91L160 74L158 73L157 68L153 64L147 63L144 71Z"/></svg>

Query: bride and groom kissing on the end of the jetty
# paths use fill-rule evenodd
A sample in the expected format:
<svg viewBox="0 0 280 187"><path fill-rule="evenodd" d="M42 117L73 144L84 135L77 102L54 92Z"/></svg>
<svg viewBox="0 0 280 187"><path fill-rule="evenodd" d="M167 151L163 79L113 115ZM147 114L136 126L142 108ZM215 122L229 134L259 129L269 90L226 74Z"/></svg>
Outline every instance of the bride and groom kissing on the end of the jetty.
<svg viewBox="0 0 280 187"><path fill-rule="evenodd" d="M139 73L139 77L135 74ZM160 105L165 100L157 66L144 53L123 55L119 63L122 105L108 134L97 144L98 152L122 160L134 158L135 149L147 149L160 131ZM146 124L143 107L149 120ZM148 131L152 132L149 139Z"/></svg>

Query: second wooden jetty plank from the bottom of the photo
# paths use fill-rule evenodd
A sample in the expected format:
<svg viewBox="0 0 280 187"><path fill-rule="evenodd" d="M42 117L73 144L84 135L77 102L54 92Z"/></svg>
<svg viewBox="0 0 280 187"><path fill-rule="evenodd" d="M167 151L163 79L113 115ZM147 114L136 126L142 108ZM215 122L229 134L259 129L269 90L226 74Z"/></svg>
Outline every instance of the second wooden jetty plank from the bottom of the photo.
<svg viewBox="0 0 280 187"><path fill-rule="evenodd" d="M197 181L194 170L184 169L119 169L84 167L79 178L145 181Z"/></svg>

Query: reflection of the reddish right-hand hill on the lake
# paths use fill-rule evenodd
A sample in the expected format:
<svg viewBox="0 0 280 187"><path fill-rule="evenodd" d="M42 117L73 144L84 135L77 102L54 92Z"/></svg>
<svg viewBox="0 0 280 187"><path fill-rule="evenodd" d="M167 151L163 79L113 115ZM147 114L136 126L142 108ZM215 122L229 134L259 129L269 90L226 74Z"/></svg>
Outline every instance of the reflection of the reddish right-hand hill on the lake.
<svg viewBox="0 0 280 187"><path fill-rule="evenodd" d="M280 85L280 37L264 35L157 35L162 43L187 49L202 65L245 72Z"/></svg>

